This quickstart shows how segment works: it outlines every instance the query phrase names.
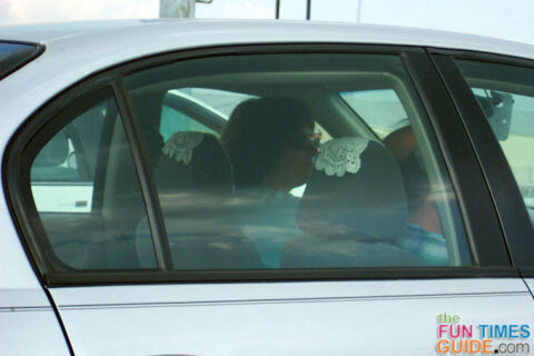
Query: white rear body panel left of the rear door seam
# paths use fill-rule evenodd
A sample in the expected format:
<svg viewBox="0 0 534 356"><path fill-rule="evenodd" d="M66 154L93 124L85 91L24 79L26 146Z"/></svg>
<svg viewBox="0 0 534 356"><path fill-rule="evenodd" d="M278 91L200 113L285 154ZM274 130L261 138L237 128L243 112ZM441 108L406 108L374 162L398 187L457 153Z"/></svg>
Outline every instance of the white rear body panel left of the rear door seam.
<svg viewBox="0 0 534 356"><path fill-rule="evenodd" d="M6 355L70 355L57 315L0 202L0 349Z"/></svg>

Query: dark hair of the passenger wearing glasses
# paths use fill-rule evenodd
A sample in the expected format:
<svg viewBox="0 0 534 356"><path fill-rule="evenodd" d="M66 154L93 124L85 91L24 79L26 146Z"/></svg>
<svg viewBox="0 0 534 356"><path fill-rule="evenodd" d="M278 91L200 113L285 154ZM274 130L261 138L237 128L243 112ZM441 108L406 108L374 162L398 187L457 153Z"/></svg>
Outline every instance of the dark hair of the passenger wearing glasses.
<svg viewBox="0 0 534 356"><path fill-rule="evenodd" d="M220 137L234 166L236 188L259 185L303 127L313 129L314 120L298 100L260 98L239 103Z"/></svg>

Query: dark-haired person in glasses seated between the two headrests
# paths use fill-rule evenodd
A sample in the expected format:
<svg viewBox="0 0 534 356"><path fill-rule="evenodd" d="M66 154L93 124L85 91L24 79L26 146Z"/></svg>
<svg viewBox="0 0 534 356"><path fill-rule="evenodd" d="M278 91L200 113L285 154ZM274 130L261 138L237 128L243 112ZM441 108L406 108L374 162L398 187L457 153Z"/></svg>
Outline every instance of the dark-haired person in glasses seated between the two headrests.
<svg viewBox="0 0 534 356"><path fill-rule="evenodd" d="M318 140L309 109L287 98L241 102L220 141L233 168L239 224L265 267L277 268L286 241L303 233L295 222L299 199L289 194L309 179Z"/></svg>

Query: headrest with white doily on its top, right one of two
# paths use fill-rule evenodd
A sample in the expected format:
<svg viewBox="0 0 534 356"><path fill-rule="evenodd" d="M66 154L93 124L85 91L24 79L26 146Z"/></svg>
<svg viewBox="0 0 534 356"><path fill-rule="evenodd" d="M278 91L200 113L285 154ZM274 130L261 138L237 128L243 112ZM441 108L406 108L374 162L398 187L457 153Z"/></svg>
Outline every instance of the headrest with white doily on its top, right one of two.
<svg viewBox="0 0 534 356"><path fill-rule="evenodd" d="M393 155L363 138L320 148L297 211L303 231L323 236L388 238L404 233L407 206Z"/></svg>

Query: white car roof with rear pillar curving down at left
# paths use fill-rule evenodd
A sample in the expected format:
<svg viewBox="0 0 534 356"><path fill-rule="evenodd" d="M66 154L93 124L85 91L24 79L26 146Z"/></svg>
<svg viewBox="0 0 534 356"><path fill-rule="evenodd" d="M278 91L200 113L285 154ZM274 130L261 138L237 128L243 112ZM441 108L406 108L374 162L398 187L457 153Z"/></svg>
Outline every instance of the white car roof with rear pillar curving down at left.
<svg viewBox="0 0 534 356"><path fill-rule="evenodd" d="M0 147L44 102L83 78L129 60L247 43L375 43L466 49L534 59L534 46L413 28L315 21L156 19L0 26L0 41L44 52L0 81Z"/></svg>

